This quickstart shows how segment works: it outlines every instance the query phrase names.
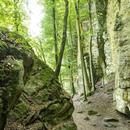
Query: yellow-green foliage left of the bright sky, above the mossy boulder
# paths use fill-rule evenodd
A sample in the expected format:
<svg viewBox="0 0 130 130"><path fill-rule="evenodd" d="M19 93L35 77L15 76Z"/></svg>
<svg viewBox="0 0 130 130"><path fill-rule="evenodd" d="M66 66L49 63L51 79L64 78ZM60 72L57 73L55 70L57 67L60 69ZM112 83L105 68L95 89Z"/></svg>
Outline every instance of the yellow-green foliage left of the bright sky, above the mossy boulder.
<svg viewBox="0 0 130 130"><path fill-rule="evenodd" d="M0 0L0 26L22 35L27 34L23 25L25 13L22 10L22 0Z"/></svg>

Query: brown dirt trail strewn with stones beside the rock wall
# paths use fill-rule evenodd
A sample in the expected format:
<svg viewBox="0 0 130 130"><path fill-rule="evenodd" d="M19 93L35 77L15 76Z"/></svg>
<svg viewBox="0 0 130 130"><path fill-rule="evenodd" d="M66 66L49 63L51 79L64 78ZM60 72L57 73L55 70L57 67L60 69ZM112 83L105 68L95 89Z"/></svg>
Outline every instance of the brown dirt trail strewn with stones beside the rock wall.
<svg viewBox="0 0 130 130"><path fill-rule="evenodd" d="M78 130L130 130L130 119L115 110L113 86L114 82L104 88L98 85L86 102L77 95L73 98L73 118Z"/></svg>

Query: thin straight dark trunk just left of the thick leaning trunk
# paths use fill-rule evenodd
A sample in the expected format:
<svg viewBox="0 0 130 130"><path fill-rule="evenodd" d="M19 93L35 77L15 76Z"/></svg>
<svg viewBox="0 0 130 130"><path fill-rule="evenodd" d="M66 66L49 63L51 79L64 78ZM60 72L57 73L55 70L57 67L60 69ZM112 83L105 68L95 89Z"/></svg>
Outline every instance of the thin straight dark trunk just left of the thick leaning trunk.
<svg viewBox="0 0 130 130"><path fill-rule="evenodd" d="M58 43L57 43L57 28L56 28L56 4L53 0L53 30L54 30L54 45L55 45L55 62L58 63Z"/></svg>

